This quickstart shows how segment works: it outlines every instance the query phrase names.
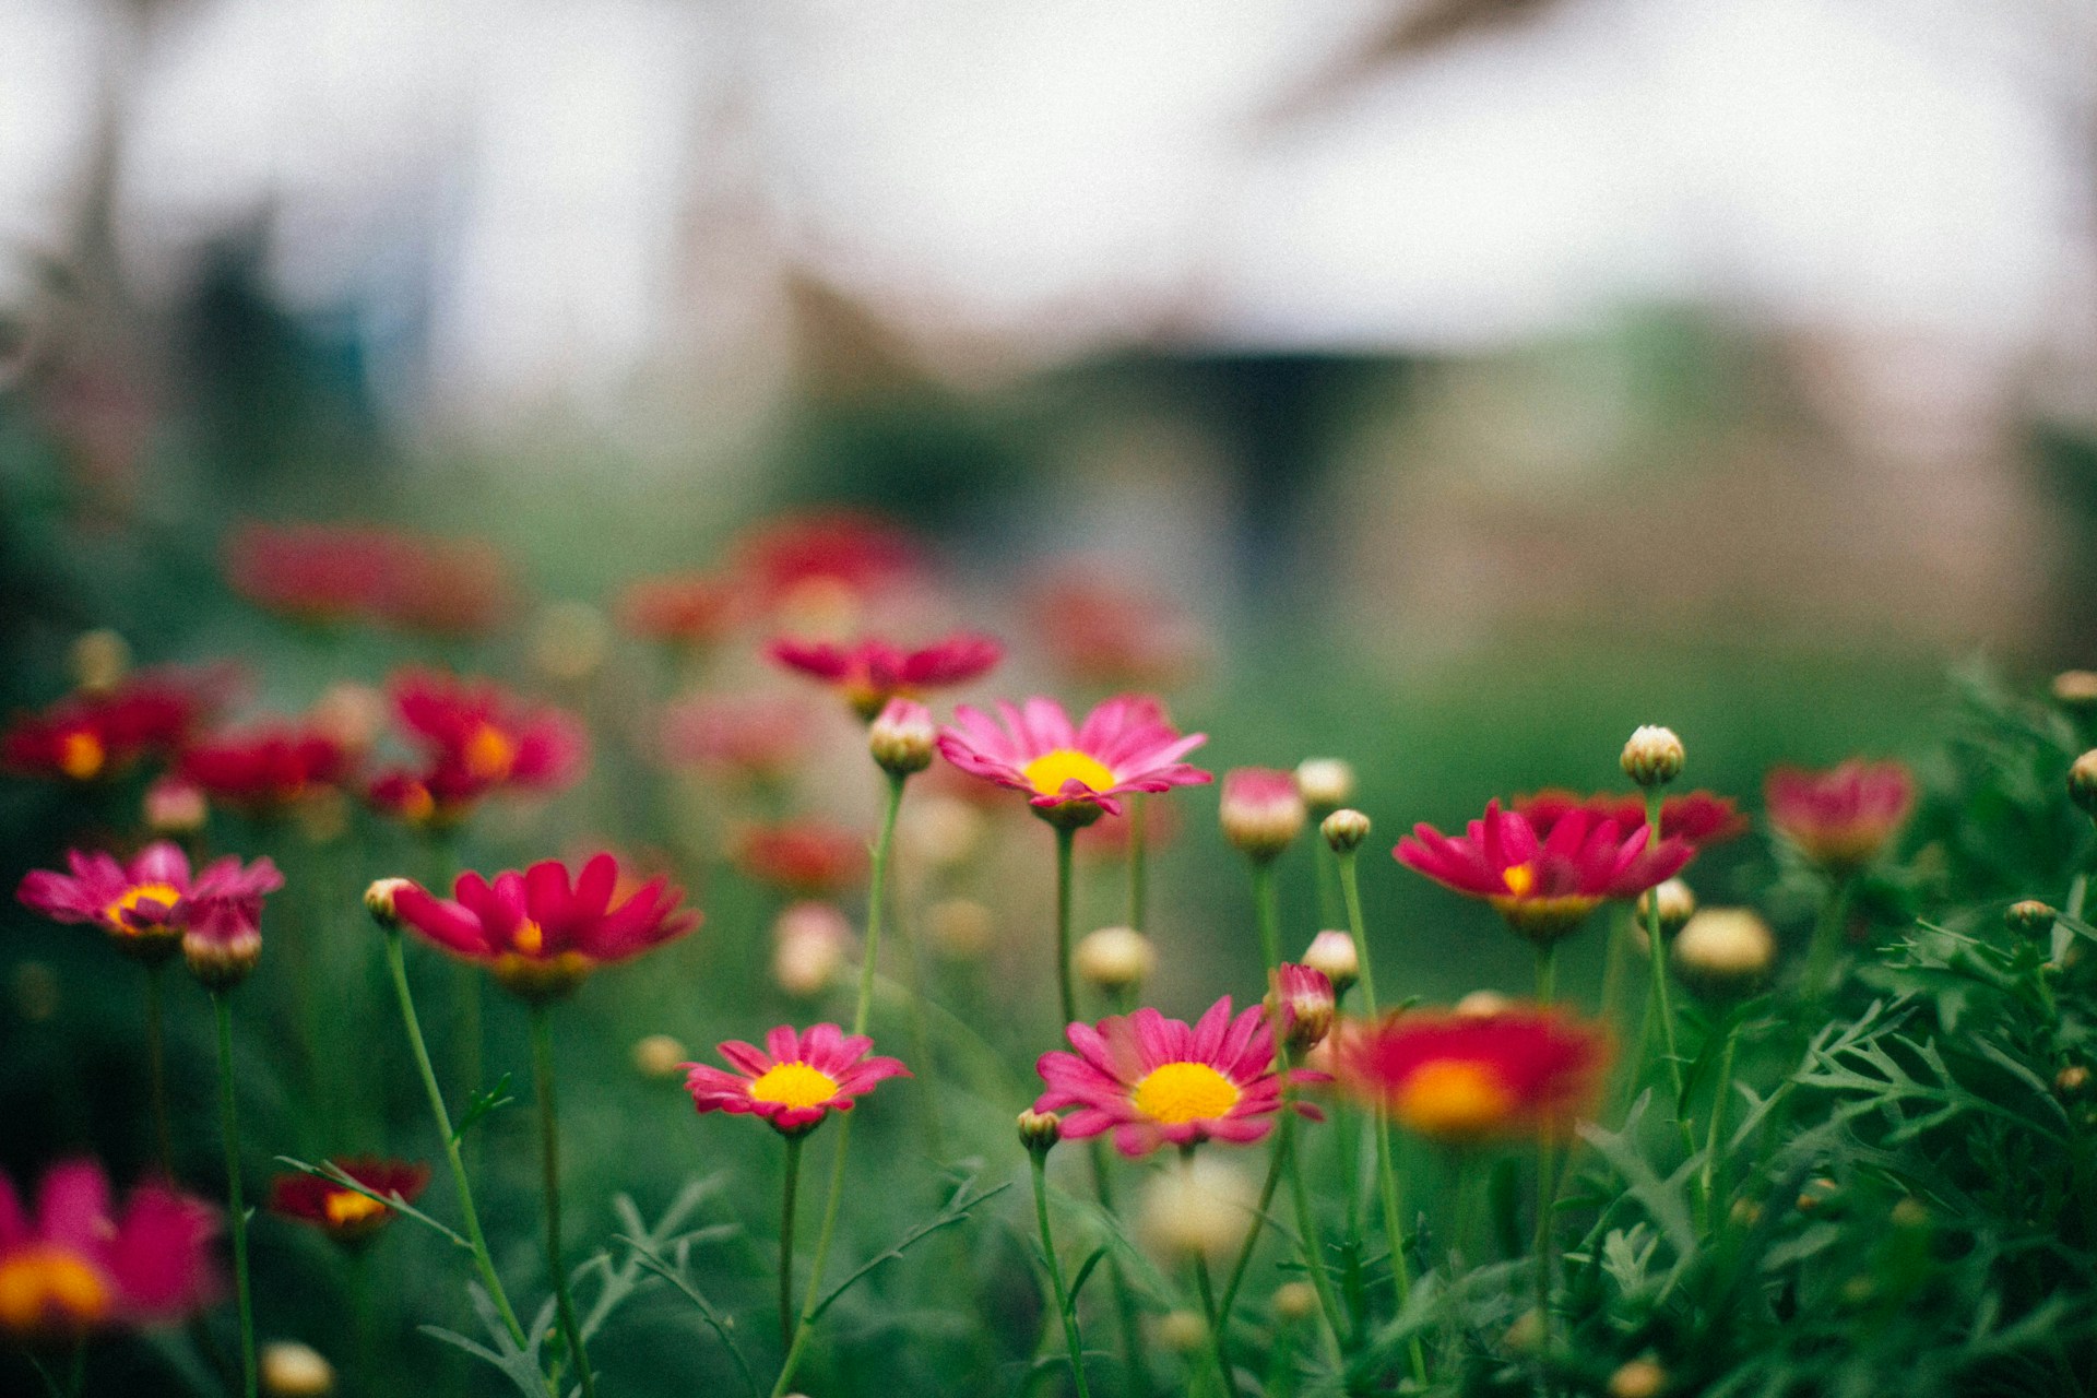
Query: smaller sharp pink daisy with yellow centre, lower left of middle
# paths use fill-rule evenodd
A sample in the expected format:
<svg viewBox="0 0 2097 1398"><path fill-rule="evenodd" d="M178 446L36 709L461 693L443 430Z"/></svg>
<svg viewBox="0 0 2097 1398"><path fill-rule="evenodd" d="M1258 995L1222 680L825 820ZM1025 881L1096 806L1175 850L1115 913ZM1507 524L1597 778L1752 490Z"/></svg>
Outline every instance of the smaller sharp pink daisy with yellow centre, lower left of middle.
<svg viewBox="0 0 2097 1398"><path fill-rule="evenodd" d="M851 1111L856 1098L885 1077L910 1077L898 1058L868 1058L874 1042L845 1033L837 1025L812 1025L795 1033L780 1025L765 1046L730 1040L719 1046L738 1073L705 1063L684 1063L684 1088L700 1111L734 1111L763 1117L782 1136L801 1136L822 1126L833 1111Z"/></svg>

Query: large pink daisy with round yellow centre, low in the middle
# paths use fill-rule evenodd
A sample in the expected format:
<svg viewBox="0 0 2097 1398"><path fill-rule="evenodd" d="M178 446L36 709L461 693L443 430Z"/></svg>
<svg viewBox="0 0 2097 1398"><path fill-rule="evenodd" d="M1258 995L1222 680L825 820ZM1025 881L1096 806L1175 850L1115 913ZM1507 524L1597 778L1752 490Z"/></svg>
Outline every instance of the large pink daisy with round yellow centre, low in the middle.
<svg viewBox="0 0 2097 1398"><path fill-rule="evenodd" d="M1078 1052L1046 1052L1034 1065L1048 1084L1034 1111L1078 1109L1063 1117L1065 1136L1111 1130L1114 1149L1137 1157L1166 1144L1258 1140L1281 1109L1275 1035L1260 1006L1233 1019L1225 996L1191 1029L1141 1008L1065 1033ZM1292 1079L1323 1075L1296 1071ZM1319 1119L1315 1107L1298 1111Z"/></svg>

